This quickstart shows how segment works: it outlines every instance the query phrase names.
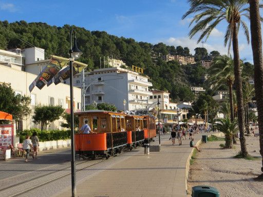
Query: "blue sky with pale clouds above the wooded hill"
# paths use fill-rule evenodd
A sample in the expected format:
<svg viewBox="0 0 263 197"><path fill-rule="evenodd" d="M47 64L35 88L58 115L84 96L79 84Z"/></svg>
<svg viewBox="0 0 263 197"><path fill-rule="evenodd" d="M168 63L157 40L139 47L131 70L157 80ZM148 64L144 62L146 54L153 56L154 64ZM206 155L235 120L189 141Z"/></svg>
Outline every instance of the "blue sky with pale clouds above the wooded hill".
<svg viewBox="0 0 263 197"><path fill-rule="evenodd" d="M193 16L182 20L189 9L187 0L0 0L0 20L43 22L62 27L65 24L87 30L134 38L138 42L189 47L205 47L227 54L223 46L226 23L218 25L205 43L188 36ZM247 23L249 27L249 23ZM251 45L239 33L240 58L253 63Z"/></svg>

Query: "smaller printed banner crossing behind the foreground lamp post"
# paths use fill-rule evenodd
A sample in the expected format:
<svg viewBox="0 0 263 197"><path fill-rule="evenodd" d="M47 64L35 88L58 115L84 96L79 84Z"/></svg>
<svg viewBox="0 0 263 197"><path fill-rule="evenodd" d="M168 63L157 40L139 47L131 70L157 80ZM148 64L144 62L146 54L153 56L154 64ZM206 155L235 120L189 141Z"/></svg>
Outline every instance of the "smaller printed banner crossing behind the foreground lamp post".
<svg viewBox="0 0 263 197"><path fill-rule="evenodd" d="M83 64L81 62L73 62L73 76L80 73L87 65ZM55 85L59 84L59 83L63 83L64 81L66 81L69 78L69 66L67 66L66 68L60 70L53 78L52 80L47 84L47 86L49 86L50 84L54 83Z"/></svg>

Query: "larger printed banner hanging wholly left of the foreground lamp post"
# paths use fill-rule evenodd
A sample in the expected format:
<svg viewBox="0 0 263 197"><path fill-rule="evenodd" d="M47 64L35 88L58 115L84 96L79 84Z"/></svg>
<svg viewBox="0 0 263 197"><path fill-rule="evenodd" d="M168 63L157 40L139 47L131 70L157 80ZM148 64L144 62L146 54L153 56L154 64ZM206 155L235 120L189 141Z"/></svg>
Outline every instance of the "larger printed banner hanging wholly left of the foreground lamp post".
<svg viewBox="0 0 263 197"><path fill-rule="evenodd" d="M67 63L67 58L52 55L48 65L37 75L32 84L30 84L29 91L31 92L35 86L41 90Z"/></svg>

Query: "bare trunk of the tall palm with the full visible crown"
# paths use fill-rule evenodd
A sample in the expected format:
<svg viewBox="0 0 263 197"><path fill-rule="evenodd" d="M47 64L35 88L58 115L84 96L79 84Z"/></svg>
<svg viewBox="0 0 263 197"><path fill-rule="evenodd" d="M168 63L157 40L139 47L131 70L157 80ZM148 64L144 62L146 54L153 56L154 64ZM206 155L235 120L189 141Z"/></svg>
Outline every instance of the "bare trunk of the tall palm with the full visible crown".
<svg viewBox="0 0 263 197"><path fill-rule="evenodd" d="M234 74L236 83L236 99L237 99L237 117L238 117L238 127L239 127L239 140L241 146L241 154L243 157L248 155L246 139L244 136L244 106L243 106L243 93L242 93L242 80L241 80L241 69L238 51L238 33L236 23L233 27L233 54L234 54Z"/></svg>

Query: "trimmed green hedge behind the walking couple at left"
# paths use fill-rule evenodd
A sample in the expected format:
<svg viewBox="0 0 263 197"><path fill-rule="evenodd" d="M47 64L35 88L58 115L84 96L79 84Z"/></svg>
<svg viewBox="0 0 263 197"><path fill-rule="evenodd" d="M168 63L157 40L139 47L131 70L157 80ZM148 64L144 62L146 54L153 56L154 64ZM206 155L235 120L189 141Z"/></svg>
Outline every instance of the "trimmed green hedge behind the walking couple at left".
<svg viewBox="0 0 263 197"><path fill-rule="evenodd" d="M32 136L36 131L40 142L52 141L52 140L66 140L70 139L70 130L43 130L40 129L26 129L24 131L16 131L16 135L20 137L20 143L23 143L27 135Z"/></svg>

